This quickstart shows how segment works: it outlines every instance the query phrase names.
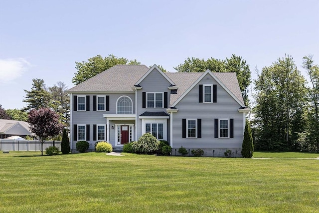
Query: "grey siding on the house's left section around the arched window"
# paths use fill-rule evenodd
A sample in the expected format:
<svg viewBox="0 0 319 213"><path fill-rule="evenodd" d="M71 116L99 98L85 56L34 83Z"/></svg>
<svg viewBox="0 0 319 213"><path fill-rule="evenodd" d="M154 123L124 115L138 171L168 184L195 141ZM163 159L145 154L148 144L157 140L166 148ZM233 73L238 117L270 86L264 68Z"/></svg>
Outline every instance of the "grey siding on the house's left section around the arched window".
<svg viewBox="0 0 319 213"><path fill-rule="evenodd" d="M93 141L93 125L94 124L106 124L106 118L103 117L103 114L116 114L116 102L119 97L126 95L132 99L133 105L133 114L135 113L135 93L72 93L71 101L73 106L73 96L74 95L89 95L90 96L90 111L73 111L72 110L72 125L71 125L71 141L72 149L76 149L76 142L73 140L73 125L77 124L89 124L90 125L90 149L94 149L94 144L96 141ZM108 95L110 96L110 111L93 111L93 96L94 95ZM118 123L118 122L117 122ZM128 121L127 123L135 123L135 121ZM112 146L115 146L115 129L111 129L112 125L115 125L114 122L110 121L110 136L109 143ZM134 130L135 131L135 130ZM106 130L107 134L107 130Z"/></svg>

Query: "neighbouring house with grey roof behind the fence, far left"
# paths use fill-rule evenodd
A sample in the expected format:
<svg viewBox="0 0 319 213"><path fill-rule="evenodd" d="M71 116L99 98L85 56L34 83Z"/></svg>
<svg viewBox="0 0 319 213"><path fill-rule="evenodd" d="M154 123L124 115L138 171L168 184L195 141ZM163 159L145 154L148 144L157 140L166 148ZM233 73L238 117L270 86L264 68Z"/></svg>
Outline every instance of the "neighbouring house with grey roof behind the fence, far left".
<svg viewBox="0 0 319 213"><path fill-rule="evenodd" d="M7 138L10 136L34 136L30 131L30 125L25 121L5 120L0 119L0 138Z"/></svg>

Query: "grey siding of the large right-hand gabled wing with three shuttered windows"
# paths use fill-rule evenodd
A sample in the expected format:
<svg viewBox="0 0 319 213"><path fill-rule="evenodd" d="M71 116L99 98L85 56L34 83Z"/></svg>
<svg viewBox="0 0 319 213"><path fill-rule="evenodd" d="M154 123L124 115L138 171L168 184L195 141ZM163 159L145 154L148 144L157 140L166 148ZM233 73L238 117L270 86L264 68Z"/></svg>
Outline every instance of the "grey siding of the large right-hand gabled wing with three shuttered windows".
<svg viewBox="0 0 319 213"><path fill-rule="evenodd" d="M199 103L199 84L217 85L217 103ZM241 148L243 142L243 113L241 106L210 76L206 75L176 105L173 113L173 148ZM201 119L201 138L182 138L182 119ZM214 119L234 119L234 138L214 138Z"/></svg>

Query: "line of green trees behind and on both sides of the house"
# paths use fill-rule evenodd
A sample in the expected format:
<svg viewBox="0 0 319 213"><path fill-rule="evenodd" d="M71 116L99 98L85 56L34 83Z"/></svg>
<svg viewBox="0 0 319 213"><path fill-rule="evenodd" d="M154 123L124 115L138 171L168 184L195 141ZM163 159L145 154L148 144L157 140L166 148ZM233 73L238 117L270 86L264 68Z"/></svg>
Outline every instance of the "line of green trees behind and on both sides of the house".
<svg viewBox="0 0 319 213"><path fill-rule="evenodd" d="M246 106L251 107L250 124L256 150L267 151L310 151L319 152L319 66L311 55L303 58L303 68L310 78L310 85L301 74L293 57L285 55L271 65L257 70L254 80L255 93L249 98L252 83L251 70L246 60L232 54L225 59L187 58L174 67L177 72L235 72ZM136 59L119 58L113 54L107 57L97 55L87 61L75 62L76 72L72 78L79 84L117 64L141 64ZM166 70L160 66L164 72ZM46 88L42 79L33 79L31 90L26 93L22 110L3 110L15 120L27 120L27 112L43 107L51 108L60 116L60 121L69 126L70 98L66 85L58 82ZM252 99L252 100L250 100ZM4 113L3 113L4 111Z"/></svg>

